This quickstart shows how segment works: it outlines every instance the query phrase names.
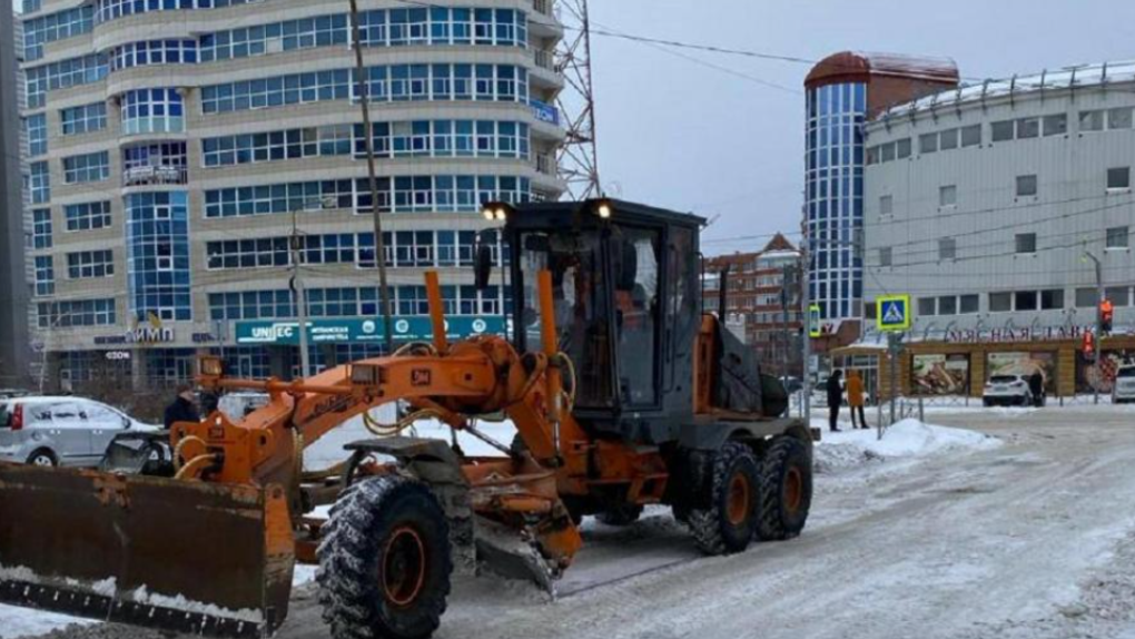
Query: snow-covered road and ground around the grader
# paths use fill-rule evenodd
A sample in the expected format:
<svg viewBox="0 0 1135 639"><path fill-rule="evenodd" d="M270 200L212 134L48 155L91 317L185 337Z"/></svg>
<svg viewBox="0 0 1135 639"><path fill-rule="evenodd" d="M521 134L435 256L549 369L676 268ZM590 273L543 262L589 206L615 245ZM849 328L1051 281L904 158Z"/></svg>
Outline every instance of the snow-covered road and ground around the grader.
<svg viewBox="0 0 1135 639"><path fill-rule="evenodd" d="M522 583L460 578L436 637L1135 639L1130 412L972 409L927 420L941 426L906 421L882 442L817 420L816 496L799 539L703 557L665 507L627 528L588 520L557 603ZM482 426L512 438L508 424ZM419 435L448 437L436 424ZM361 423L335 434L367 436ZM309 465L339 461L335 448L321 442ZM297 585L312 575L297 571ZM52 639L158 637L102 628ZM280 637L327 637L310 587Z"/></svg>

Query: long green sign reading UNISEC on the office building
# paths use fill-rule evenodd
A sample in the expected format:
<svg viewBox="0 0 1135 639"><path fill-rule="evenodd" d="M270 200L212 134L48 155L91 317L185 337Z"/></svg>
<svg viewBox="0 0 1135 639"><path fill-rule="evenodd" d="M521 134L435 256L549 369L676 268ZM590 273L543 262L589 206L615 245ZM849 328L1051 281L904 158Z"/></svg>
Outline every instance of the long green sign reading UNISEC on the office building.
<svg viewBox="0 0 1135 639"><path fill-rule="evenodd" d="M474 335L504 335L501 317L446 318L446 337L464 339ZM308 320L309 344L367 344L385 339L381 319L312 319ZM422 342L434 338L434 327L427 317L395 318L394 340ZM299 321L238 321L236 343L242 345L299 346Z"/></svg>

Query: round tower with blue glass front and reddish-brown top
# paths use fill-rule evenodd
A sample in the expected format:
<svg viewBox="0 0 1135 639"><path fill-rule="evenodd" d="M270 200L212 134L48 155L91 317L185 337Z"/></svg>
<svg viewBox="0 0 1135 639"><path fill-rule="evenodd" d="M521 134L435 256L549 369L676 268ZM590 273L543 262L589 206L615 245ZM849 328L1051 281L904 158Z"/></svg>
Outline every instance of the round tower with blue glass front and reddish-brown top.
<svg viewBox="0 0 1135 639"><path fill-rule="evenodd" d="M824 351L859 337L863 317L864 126L885 109L958 84L952 60L842 52L805 79L808 299Z"/></svg>

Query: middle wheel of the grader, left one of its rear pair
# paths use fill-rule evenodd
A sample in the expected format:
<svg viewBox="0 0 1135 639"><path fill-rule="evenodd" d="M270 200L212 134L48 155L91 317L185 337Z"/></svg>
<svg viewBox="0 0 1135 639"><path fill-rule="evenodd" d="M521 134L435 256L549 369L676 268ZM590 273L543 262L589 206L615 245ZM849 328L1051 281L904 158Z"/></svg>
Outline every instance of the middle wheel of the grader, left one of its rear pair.
<svg viewBox="0 0 1135 639"><path fill-rule="evenodd" d="M759 505L759 468L753 449L728 442L713 459L708 507L689 513L690 531L707 555L740 553L756 533Z"/></svg>

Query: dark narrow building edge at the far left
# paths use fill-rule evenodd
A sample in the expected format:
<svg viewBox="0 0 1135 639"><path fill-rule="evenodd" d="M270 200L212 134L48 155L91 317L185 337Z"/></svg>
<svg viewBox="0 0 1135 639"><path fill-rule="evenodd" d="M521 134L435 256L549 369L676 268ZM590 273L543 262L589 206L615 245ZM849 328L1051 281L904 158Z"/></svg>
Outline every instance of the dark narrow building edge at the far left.
<svg viewBox="0 0 1135 639"><path fill-rule="evenodd" d="M0 86L18 86L22 33L11 10L0 10ZM27 327L27 269L24 257L24 203L20 158L20 95L0 100L0 384L22 384L31 354Z"/></svg>

